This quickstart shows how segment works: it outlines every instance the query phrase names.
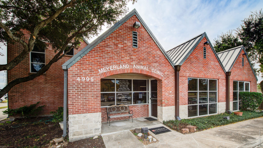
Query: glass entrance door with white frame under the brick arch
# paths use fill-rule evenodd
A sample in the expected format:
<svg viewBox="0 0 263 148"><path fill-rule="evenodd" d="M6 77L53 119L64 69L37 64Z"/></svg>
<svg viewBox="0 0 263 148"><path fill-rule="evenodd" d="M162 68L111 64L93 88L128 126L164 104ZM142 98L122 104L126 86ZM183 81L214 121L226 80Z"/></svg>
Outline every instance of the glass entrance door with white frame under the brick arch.
<svg viewBox="0 0 263 148"><path fill-rule="evenodd" d="M157 80L153 79L149 81L150 93L150 116L157 119Z"/></svg>

